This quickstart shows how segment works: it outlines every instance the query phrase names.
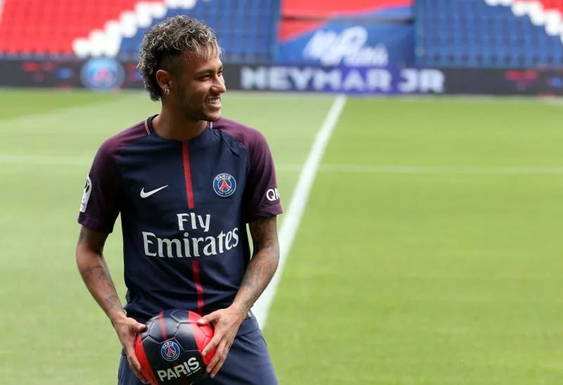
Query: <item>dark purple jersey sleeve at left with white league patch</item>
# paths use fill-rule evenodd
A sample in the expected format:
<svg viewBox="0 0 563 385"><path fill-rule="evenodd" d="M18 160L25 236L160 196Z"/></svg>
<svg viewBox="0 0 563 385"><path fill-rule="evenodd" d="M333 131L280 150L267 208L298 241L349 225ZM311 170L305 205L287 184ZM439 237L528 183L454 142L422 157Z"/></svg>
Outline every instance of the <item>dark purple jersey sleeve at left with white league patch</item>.
<svg viewBox="0 0 563 385"><path fill-rule="evenodd" d="M113 232L120 212L118 165L110 143L104 142L94 156L78 215L81 225L104 233Z"/></svg>

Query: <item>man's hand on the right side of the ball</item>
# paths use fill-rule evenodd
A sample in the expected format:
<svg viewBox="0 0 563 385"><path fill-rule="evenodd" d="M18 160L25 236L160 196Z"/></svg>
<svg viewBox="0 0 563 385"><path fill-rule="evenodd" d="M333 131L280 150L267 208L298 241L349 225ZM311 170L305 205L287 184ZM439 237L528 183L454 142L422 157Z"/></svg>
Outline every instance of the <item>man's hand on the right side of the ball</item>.
<svg viewBox="0 0 563 385"><path fill-rule="evenodd" d="M211 378L215 377L215 374L221 369L225 358L227 358L227 353L229 353L229 349L233 344L234 336L239 331L245 316L246 313L241 308L232 305L226 309L216 310L198 320L198 324L213 323L215 328L213 339L209 341L203 352L201 352L201 355L205 357L210 351L213 351L213 348L217 348L213 358L207 365L207 371L210 373Z"/></svg>

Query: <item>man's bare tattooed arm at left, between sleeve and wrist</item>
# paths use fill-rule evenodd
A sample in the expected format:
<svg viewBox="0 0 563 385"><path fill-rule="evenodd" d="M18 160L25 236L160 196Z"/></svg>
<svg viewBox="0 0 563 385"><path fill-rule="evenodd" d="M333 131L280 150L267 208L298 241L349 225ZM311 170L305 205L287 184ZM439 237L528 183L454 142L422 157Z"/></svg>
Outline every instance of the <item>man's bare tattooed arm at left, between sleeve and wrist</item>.
<svg viewBox="0 0 563 385"><path fill-rule="evenodd" d="M126 316L103 258L107 238L108 234L82 226L76 246L76 263L90 294L114 324L115 320Z"/></svg>

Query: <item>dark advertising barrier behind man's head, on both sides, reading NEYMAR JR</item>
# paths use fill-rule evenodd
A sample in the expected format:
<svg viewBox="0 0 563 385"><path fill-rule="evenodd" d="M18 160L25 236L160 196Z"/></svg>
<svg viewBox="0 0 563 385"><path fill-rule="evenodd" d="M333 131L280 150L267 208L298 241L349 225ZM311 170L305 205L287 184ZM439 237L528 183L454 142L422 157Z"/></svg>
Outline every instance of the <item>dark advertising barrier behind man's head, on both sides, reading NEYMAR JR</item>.
<svg viewBox="0 0 563 385"><path fill-rule="evenodd" d="M141 89L136 63L0 61L0 87ZM360 95L563 95L563 70L225 65L228 89Z"/></svg>

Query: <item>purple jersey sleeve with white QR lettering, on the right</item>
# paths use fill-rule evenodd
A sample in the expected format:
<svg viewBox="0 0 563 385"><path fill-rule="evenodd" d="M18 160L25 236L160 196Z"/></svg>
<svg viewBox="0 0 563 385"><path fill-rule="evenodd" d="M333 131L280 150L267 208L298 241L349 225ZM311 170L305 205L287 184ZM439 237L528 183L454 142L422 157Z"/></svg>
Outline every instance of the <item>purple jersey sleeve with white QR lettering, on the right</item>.
<svg viewBox="0 0 563 385"><path fill-rule="evenodd" d="M265 137L255 132L249 147L250 171L245 189L246 222L272 217L283 212L277 189L274 159Z"/></svg>

